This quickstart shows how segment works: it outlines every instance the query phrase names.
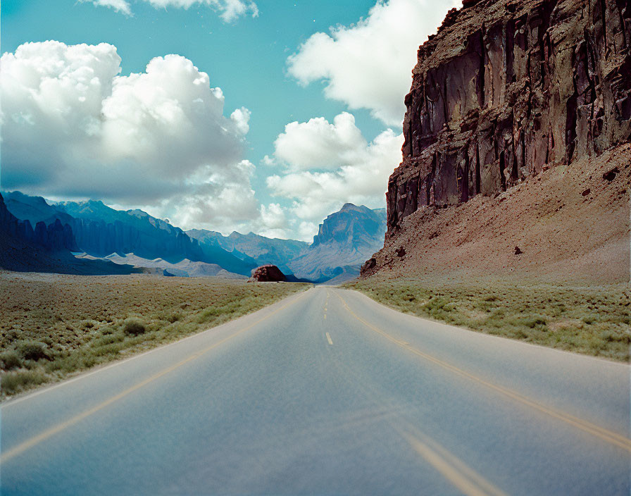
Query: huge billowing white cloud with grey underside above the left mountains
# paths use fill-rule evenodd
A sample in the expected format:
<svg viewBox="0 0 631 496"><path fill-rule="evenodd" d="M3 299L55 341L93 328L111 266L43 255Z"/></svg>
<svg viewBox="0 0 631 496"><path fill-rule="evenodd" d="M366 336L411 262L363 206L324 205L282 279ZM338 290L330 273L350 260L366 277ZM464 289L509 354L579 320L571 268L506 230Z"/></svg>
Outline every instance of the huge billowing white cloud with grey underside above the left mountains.
<svg viewBox="0 0 631 496"><path fill-rule="evenodd" d="M27 43L0 58L0 91L5 189L146 206L184 226L259 215L249 110L224 116L223 92L187 58L123 76L111 44Z"/></svg>

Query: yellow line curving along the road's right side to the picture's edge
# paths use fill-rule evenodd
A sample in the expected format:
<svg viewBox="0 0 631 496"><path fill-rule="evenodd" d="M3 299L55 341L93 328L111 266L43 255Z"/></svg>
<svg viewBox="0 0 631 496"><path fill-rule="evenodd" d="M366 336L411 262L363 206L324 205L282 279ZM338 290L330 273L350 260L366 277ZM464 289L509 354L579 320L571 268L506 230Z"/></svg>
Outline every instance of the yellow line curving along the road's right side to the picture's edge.
<svg viewBox="0 0 631 496"><path fill-rule="evenodd" d="M516 402L520 402L521 404L525 404L529 407L532 407L533 409L536 409L538 411L541 411L544 414L547 414L549 416L554 417L555 419L561 420L563 422L566 422L572 426L575 426L576 428L579 428L580 430L583 430L587 433L590 433L592 435L595 435L598 438L601 438L601 440L604 440L606 442L611 443L612 445L616 445L618 447L623 448L624 450L627 450L628 452L631 452L631 440L628 438L625 438L625 436L620 435L618 433L615 433L611 430L608 430L606 428L600 427L600 426L596 426L594 423L585 421L583 419L579 419L578 417L575 417L573 415L570 414L566 414L563 411L559 411L556 409L553 409L551 407L545 407L542 404L539 404L537 402L535 402L535 400L530 399L528 397L525 397L523 395L520 395L518 392L515 392L513 390L508 389L507 387L503 387L500 385L496 385L493 383L489 383L489 381L482 379L480 377L474 376L472 373L463 371L461 368L458 368L454 365L448 364L446 361L442 361L440 359L435 358L434 356L431 356L430 354L427 353L423 353L418 351L418 349L414 349L413 347L411 347L407 342L401 341L396 339L396 337L392 337L391 335L389 335L388 333L385 333L385 331L376 328L374 325L368 323L367 321L363 320L363 318L359 317L357 314L355 314L354 311L352 311L349 306L346 304L346 302L344 301L344 299L339 296L339 294L337 294L337 297L342 301L342 304L344 304L344 306L346 307L346 310L348 310L350 312L350 314L352 316L354 316L358 321L360 321L361 323L363 323L363 325L366 325L366 327L372 329L375 331L375 333L378 333L380 335L382 335L383 337L387 338L388 340L396 343L396 345L399 345L405 349L407 349L408 351L412 352L413 354L416 354L418 356L421 356L423 359L426 359L428 361L431 361L434 364L437 364L439 366L442 366L443 368L448 369L449 371L452 371L456 374L458 374L459 376L462 376L464 378L470 379L475 381L478 384L482 384L485 385L486 387L489 387L490 389L501 393L502 395L508 396L511 399L514 399Z"/></svg>

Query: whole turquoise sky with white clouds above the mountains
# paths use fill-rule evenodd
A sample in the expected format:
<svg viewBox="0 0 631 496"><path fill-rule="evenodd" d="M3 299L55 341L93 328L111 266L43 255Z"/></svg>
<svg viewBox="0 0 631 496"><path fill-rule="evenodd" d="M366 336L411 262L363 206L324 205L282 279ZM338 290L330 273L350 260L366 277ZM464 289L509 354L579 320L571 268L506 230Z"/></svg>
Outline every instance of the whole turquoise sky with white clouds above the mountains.
<svg viewBox="0 0 631 496"><path fill-rule="evenodd" d="M459 0L4 0L0 189L311 241L385 206Z"/></svg>

